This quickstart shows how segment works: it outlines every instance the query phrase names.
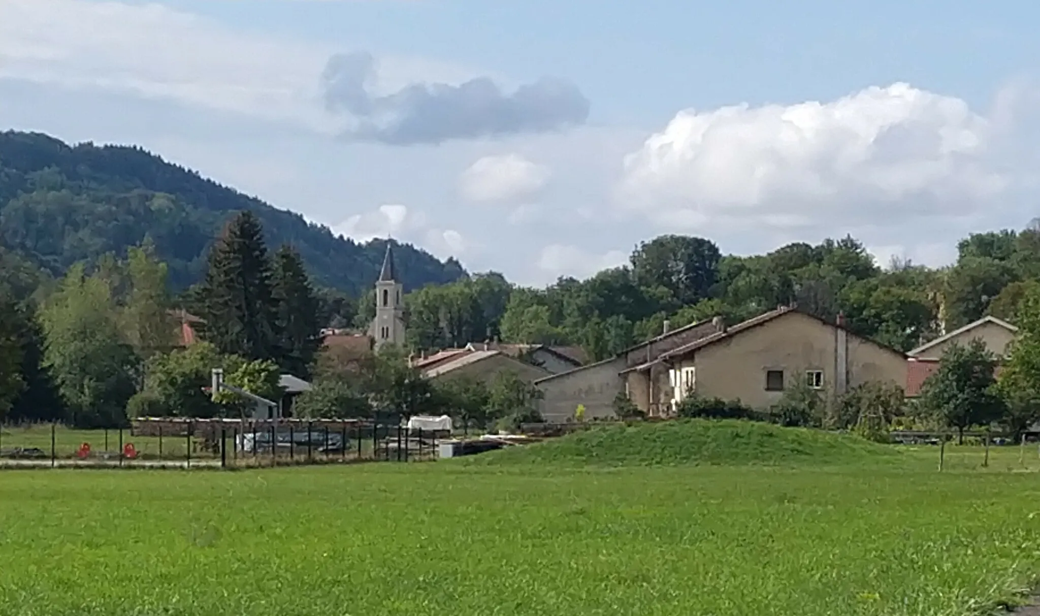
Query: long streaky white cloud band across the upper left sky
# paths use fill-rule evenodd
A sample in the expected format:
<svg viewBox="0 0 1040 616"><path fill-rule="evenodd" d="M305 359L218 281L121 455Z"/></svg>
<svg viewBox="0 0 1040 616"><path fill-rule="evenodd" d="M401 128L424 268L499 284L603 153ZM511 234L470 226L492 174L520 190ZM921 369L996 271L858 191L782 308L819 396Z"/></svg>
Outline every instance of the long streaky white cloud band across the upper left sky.
<svg viewBox="0 0 1040 616"><path fill-rule="evenodd" d="M333 131L320 76L338 47L238 31L157 3L0 1L0 77L99 87ZM472 72L412 57L381 58L375 92Z"/></svg>

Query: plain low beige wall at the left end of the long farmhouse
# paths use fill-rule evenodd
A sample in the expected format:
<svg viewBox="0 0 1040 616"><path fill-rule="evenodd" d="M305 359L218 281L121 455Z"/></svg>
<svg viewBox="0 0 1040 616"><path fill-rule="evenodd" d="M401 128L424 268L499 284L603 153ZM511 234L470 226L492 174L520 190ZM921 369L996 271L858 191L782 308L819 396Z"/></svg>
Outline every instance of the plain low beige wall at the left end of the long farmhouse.
<svg viewBox="0 0 1040 616"><path fill-rule="evenodd" d="M586 407L586 419L614 416L614 399L625 390L625 358L590 364L536 383L544 397L540 404L542 417L550 422L574 418L578 405Z"/></svg>

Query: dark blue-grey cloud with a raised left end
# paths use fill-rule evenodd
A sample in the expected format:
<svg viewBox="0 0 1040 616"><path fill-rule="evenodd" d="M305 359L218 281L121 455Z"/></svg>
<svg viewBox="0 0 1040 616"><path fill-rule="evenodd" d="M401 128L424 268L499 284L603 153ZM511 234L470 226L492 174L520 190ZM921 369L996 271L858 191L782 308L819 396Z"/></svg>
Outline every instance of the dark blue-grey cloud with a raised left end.
<svg viewBox="0 0 1040 616"><path fill-rule="evenodd" d="M326 66L326 104L354 120L344 133L348 138L396 146L441 144L548 132L589 118L589 100L562 79L543 77L513 94L503 93L488 77L477 77L459 85L411 83L376 95L375 75L375 59L365 52L334 55Z"/></svg>

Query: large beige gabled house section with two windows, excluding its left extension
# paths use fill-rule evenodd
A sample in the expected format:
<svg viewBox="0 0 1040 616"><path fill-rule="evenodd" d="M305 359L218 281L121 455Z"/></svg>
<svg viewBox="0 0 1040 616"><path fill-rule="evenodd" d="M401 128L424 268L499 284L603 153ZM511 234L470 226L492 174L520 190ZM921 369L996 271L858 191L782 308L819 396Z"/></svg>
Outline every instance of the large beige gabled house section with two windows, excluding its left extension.
<svg viewBox="0 0 1040 616"><path fill-rule="evenodd" d="M691 393L765 409L795 383L826 399L868 382L906 383L906 356L794 308L780 308L666 353L671 397Z"/></svg>

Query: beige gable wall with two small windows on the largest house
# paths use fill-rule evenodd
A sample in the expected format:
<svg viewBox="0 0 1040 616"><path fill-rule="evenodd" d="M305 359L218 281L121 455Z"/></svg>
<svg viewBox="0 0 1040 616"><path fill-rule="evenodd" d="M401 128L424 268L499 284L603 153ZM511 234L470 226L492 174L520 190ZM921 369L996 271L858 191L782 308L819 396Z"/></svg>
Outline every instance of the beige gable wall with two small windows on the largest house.
<svg viewBox="0 0 1040 616"><path fill-rule="evenodd" d="M846 352L839 353L842 348ZM867 381L904 387L907 371L902 354L798 312L696 350L674 363L678 370L695 368L698 395L739 400L759 409L783 395L765 389L768 370L783 370L785 388L806 379L806 371L821 370L822 392L828 397Z"/></svg>

